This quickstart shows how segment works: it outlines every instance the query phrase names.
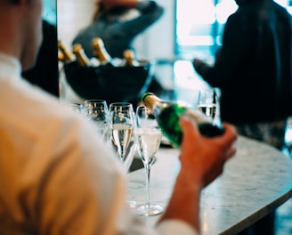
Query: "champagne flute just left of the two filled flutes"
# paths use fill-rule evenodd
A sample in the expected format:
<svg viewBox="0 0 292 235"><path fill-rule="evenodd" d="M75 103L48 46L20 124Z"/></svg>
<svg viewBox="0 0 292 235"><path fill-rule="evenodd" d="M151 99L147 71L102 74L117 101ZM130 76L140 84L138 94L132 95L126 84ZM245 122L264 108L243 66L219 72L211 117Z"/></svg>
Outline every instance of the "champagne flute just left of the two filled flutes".
<svg viewBox="0 0 292 235"><path fill-rule="evenodd" d="M109 135L109 109L105 100L86 100L85 115L93 120L98 127L104 141L108 142Z"/></svg>

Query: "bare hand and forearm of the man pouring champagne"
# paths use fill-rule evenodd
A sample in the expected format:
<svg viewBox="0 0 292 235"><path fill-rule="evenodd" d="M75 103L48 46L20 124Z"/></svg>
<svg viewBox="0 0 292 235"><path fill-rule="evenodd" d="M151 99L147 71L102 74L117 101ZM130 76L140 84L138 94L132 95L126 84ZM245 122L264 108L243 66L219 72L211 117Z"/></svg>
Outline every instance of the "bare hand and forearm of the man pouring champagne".
<svg viewBox="0 0 292 235"><path fill-rule="evenodd" d="M207 138L199 134L198 126L190 118L183 116L180 124L183 129L181 170L168 207L158 223L177 219L199 231L201 190L222 174L225 162L235 154L237 134L233 126L223 124L222 135Z"/></svg>

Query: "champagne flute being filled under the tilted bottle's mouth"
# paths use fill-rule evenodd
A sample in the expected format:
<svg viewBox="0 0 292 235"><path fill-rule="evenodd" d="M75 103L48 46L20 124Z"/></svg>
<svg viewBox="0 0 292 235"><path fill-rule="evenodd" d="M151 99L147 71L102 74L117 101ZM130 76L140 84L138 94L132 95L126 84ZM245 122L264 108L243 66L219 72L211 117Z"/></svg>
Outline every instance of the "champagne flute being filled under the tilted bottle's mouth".
<svg viewBox="0 0 292 235"><path fill-rule="evenodd" d="M135 207L135 212L138 215L159 215L164 208L150 202L150 167L159 149L162 133L153 115L150 114L150 109L145 106L137 107L136 118L138 152L146 170L146 202Z"/></svg>

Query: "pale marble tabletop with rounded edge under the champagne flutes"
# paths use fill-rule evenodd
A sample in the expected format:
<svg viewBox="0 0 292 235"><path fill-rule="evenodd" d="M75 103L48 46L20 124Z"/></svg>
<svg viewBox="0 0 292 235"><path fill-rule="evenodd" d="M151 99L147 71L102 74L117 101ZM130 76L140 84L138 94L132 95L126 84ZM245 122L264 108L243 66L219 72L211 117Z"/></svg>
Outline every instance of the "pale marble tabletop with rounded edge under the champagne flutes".
<svg viewBox="0 0 292 235"><path fill-rule="evenodd" d="M292 161L264 143L239 137L236 156L201 197L202 234L237 234L292 197ZM179 151L161 148L151 167L150 200L166 205L179 170ZM145 170L129 175L129 199L145 197ZM143 218L154 224L159 215Z"/></svg>

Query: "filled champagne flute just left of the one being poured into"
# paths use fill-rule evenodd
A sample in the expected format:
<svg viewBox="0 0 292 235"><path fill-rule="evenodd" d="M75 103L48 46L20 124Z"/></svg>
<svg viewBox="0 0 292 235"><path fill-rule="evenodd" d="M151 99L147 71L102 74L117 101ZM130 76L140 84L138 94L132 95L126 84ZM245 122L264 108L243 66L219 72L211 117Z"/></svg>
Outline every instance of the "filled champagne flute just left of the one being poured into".
<svg viewBox="0 0 292 235"><path fill-rule="evenodd" d="M135 147L135 118L131 103L110 103L110 140L126 171L132 164Z"/></svg>

